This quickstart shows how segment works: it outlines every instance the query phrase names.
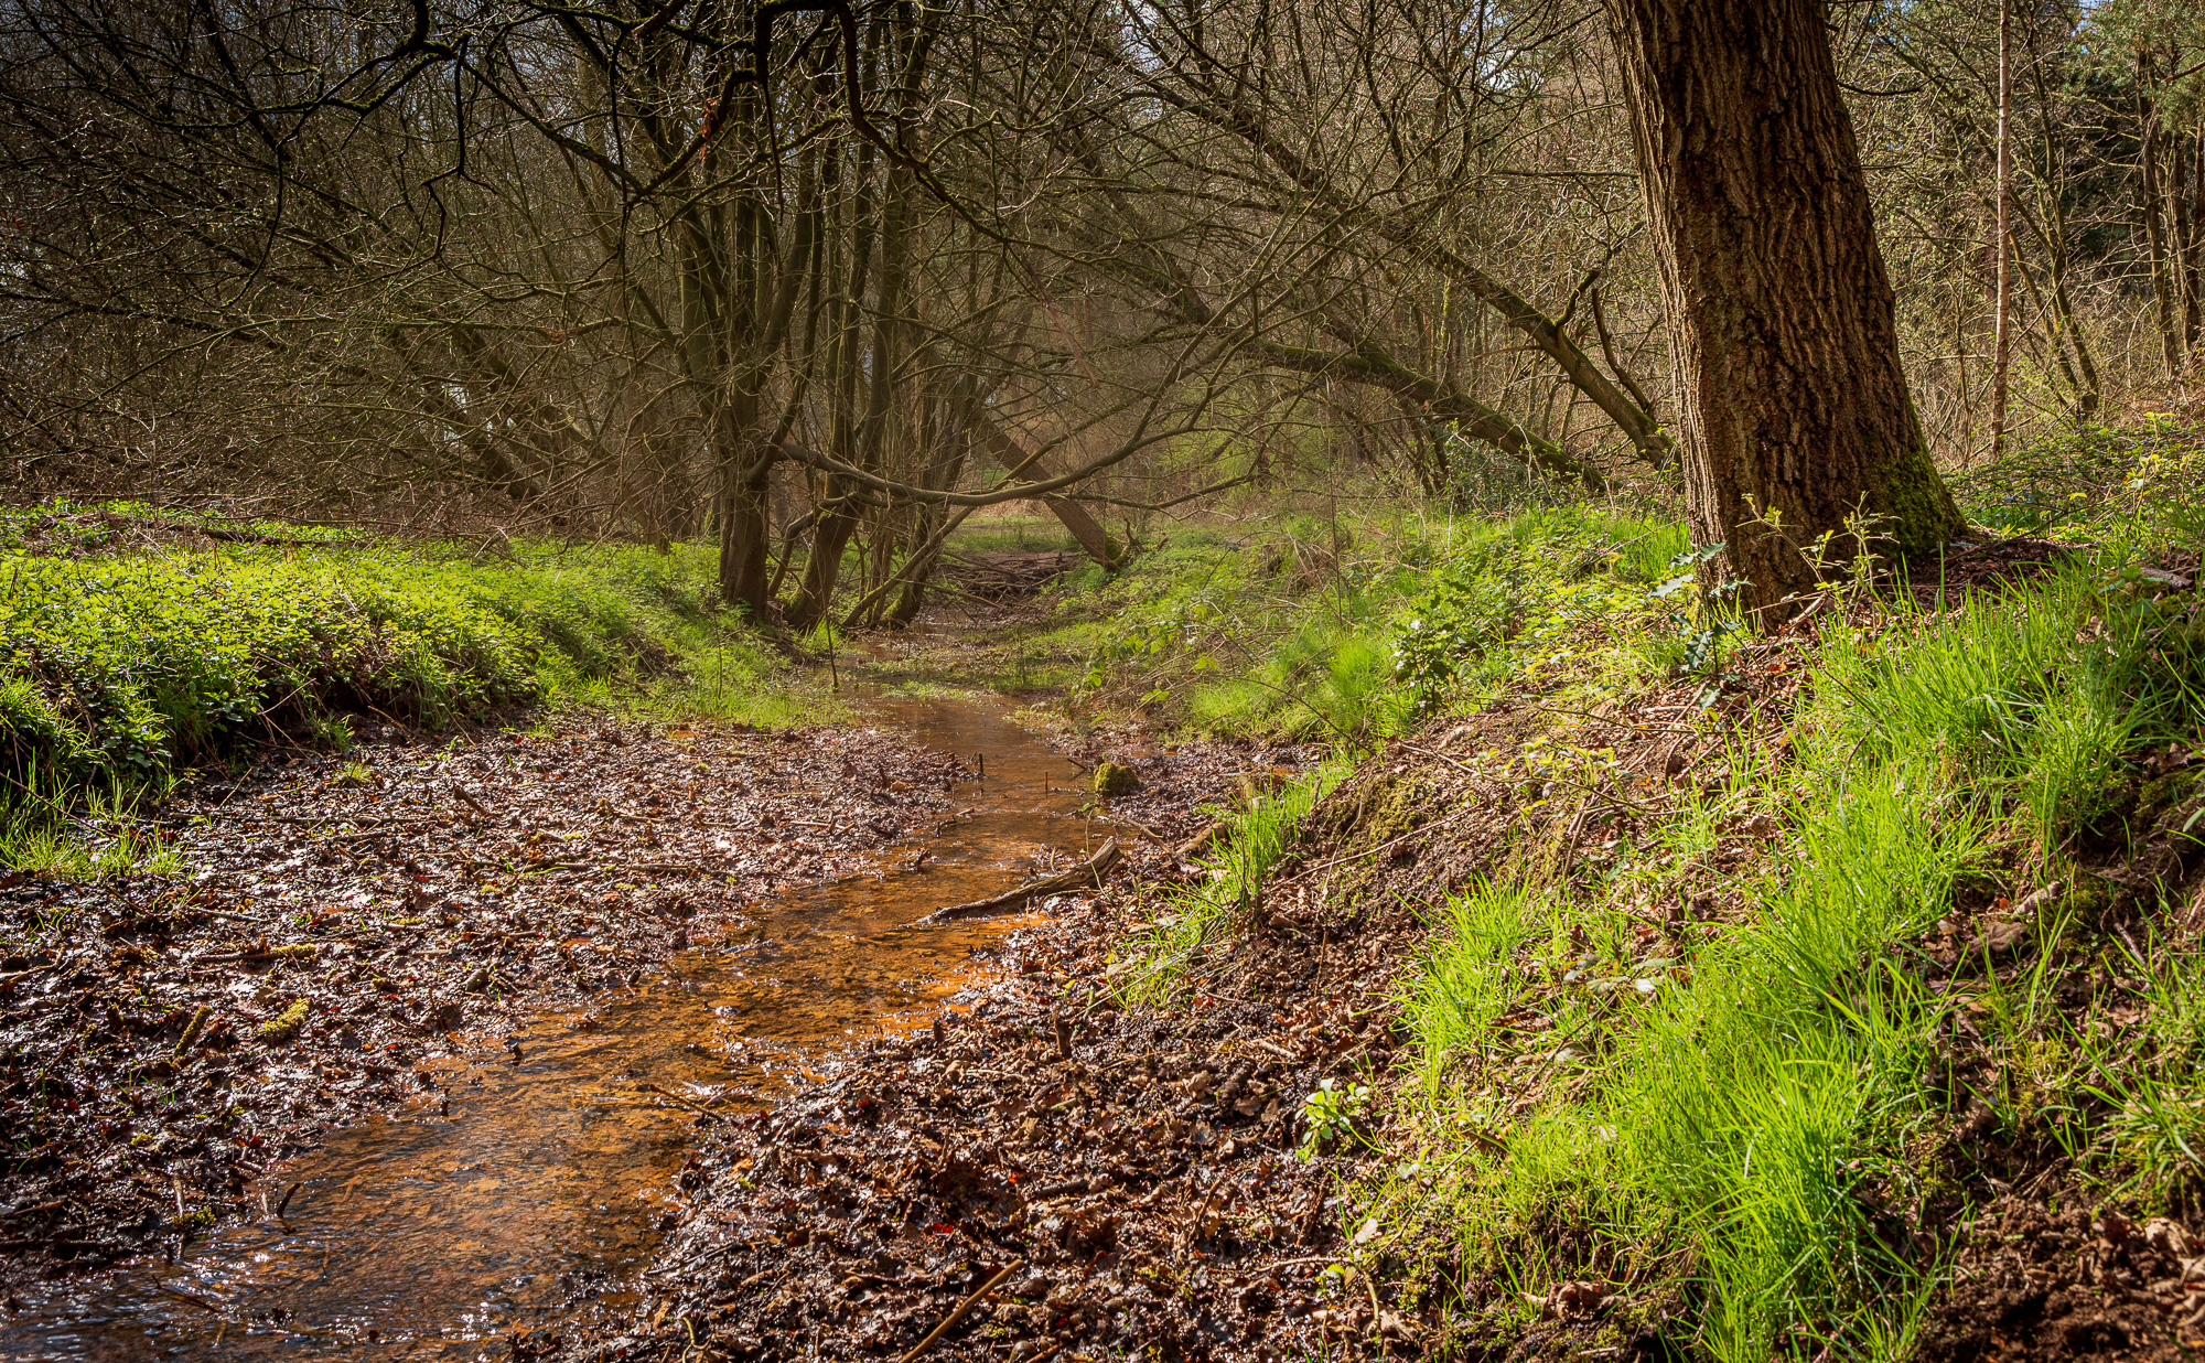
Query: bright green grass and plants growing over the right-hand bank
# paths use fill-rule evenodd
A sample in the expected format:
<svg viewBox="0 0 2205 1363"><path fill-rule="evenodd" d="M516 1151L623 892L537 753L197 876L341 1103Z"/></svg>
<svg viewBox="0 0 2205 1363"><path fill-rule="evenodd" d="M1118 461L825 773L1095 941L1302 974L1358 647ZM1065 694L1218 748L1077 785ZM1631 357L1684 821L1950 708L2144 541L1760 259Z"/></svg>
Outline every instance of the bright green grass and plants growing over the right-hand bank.
<svg viewBox="0 0 2205 1363"><path fill-rule="evenodd" d="M2165 849L2205 851L2205 607L2154 565L2198 543L2205 470L2187 430L2121 439L2084 498L2055 470L1980 518L2073 543L2044 576L1951 609L1843 587L1775 653L1687 604L1680 527L1607 509L1188 536L1118 578L1087 701L1336 752L1219 812L1111 959L1133 1001L1200 999L1297 851L1394 836L1372 798L1314 840L1376 739L1504 690L1541 712L1475 756L1519 794L1488 878L1431 887L1400 1070L1308 1098L1310 1149L1358 1156L1343 1306L1431 1308L1429 1356L1905 1359L1989 1151L2194 1211L2205 891ZM1358 648L1365 693L1334 673ZM1715 719L1744 668L1804 675L1788 723ZM1689 781L1588 737L1649 688Z"/></svg>

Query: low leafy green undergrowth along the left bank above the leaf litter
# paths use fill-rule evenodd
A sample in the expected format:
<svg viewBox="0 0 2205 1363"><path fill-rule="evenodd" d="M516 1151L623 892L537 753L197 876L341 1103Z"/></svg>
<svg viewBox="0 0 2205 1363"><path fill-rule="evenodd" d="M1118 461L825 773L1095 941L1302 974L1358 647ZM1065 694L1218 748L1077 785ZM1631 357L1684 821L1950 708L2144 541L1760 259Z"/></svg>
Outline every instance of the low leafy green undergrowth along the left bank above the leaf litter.
<svg viewBox="0 0 2205 1363"><path fill-rule="evenodd" d="M33 814L260 741L342 750L359 719L437 728L547 701L765 728L820 715L717 604L703 547L132 545L110 527L150 516L60 512L0 525L0 779Z"/></svg>

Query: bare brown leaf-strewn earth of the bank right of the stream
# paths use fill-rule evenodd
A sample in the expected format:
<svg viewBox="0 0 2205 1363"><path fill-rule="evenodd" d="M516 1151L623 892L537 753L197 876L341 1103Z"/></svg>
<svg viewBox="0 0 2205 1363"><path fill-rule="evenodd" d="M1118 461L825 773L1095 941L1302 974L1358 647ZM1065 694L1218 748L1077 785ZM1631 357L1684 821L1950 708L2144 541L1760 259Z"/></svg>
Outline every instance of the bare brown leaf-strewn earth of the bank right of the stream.
<svg viewBox="0 0 2205 1363"><path fill-rule="evenodd" d="M1482 878L1601 904L1614 940L1561 931L1559 964L1521 981L1477 1056L1493 1112L1550 1101L1574 1078L1557 1078L1552 1012L1590 999L1623 1019L1674 962L1751 931L1755 887L1797 856L1784 805L1755 783L1793 770L1810 662L1801 640L1766 640L1738 648L1718 686L1652 684L1590 710L1568 697L1583 677L1555 675L1394 743L1314 809L1188 992L1158 1010L1116 999L1111 955L1195 867L1147 849L1096 902L1017 942L1021 977L970 1015L853 1052L708 1145L633 1328L523 1348L571 1363L699 1345L732 1359L926 1345L928 1359L1019 1363L1669 1356L1702 1290L1689 1257L1557 1215L1535 1246L1552 1281L1526 1292L1495 1268L1508 1244L1473 1262L1460 1226L1367 1211L1380 1171L1398 1195L1435 1153L1420 1145L1429 1127L1385 1116L1389 1090L1413 1083L1396 1063L1394 990L1433 904ZM2205 1235L2185 1184L2119 1195L2119 1165L2077 1167L2051 1125L2013 1118L2051 1052L1973 1021L2020 990L2055 1010L2040 1037L2141 1017L2093 1008L2123 946L2187 951L2205 922L2183 913L2201 858L2176 836L2196 801L2143 803L2196 761L2137 759L2137 798L2075 847L2086 891L2057 940L2015 931L2018 906L2048 887L2000 843L1951 887L1949 917L1894 957L1954 1004L1934 1037L1943 1078L1905 1138L1912 1182L1863 1176L1846 1195L1892 1281L1916 1281L1910 1266L1934 1275L1921 1356L2172 1359L2205 1332ZM1654 856L1718 796L1704 836ZM1610 904L1618 865L1658 873ZM1303 1160L1305 1098L1327 1083L1369 1085L1369 1120ZM1451 1140L1506 1160L1506 1134Z"/></svg>

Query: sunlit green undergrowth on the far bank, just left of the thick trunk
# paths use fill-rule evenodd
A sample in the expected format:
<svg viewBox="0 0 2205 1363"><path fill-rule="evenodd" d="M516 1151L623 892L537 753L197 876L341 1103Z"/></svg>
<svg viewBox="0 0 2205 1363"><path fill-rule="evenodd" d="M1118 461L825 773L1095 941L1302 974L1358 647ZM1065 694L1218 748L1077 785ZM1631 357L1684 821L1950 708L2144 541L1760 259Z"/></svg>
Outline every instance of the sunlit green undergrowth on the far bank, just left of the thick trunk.
<svg viewBox="0 0 2205 1363"><path fill-rule="evenodd" d="M1367 750L1585 620L1643 611L1682 527L1596 507L1184 532L1063 587L1067 699L1222 737ZM1669 648L1660 664L1680 657Z"/></svg>

